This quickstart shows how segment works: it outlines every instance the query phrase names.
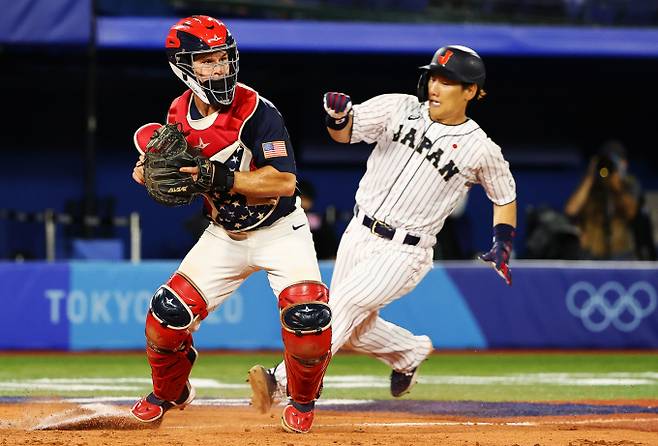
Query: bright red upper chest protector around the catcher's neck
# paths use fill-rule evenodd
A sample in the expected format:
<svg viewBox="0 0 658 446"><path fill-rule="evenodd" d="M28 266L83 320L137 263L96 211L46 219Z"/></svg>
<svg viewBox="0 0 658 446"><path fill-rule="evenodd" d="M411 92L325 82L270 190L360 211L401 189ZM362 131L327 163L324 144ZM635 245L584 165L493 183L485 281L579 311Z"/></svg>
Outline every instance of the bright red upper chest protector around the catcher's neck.
<svg viewBox="0 0 658 446"><path fill-rule="evenodd" d="M242 128L258 105L258 93L245 85L237 84L233 103L229 108L217 113L214 121L203 122L202 126L199 125L201 123L195 122L192 127L187 119L191 96L192 90L187 90L174 99L169 107L167 122L180 122L183 132L187 135L188 144L201 149L201 153L208 158L240 139Z"/></svg>

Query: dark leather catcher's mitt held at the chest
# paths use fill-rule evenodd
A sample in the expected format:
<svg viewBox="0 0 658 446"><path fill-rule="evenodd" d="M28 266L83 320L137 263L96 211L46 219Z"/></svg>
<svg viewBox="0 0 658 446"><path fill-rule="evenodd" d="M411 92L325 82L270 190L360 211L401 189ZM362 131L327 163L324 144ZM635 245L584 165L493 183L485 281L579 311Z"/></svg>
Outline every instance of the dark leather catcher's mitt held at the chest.
<svg viewBox="0 0 658 446"><path fill-rule="evenodd" d="M181 167L198 167L195 181ZM166 124L153 133L146 145L144 183L151 198L165 206L190 204L197 194L212 186L212 162L188 146L181 125Z"/></svg>

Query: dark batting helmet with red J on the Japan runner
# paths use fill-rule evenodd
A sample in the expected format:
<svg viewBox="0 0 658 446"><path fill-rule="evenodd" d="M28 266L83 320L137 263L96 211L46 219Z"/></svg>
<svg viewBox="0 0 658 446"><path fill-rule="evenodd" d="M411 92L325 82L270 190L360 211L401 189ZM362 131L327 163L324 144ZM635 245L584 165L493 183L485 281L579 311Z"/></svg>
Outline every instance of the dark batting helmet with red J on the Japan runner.
<svg viewBox="0 0 658 446"><path fill-rule="evenodd" d="M429 73L436 73L465 84L476 84L478 88L484 86L486 72L484 62L480 55L467 46L448 45L439 48L432 62L419 67L423 72L418 79L418 100L425 102L428 98L427 77Z"/></svg>

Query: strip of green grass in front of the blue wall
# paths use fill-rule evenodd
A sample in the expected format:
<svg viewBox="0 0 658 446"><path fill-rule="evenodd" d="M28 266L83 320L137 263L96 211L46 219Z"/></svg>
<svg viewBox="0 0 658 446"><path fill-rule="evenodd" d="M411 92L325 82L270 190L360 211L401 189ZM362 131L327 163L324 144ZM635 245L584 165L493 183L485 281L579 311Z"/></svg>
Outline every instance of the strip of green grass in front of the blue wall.
<svg viewBox="0 0 658 446"><path fill-rule="evenodd" d="M229 384L244 384L246 372L253 364L273 366L279 353L216 354L201 352L193 378L206 378ZM338 354L327 376L368 375L379 386L364 384L357 388L325 385L323 398L390 399L385 387L390 369L366 356ZM537 382L537 374L565 374L566 379ZM574 375L577 374L577 375ZM533 377L534 381L516 382L511 377ZM142 353L21 353L0 354L0 396L118 396L126 390L52 391L3 388L12 380L59 378L148 378L150 369ZM547 375L542 375L547 376ZM602 385L600 382L573 383L573 378L639 379ZM502 381L496 381L500 380ZM449 382L446 382L449 381ZM465 382L463 382L465 381ZM494 382L491 382L494 381ZM630 382L630 384L629 384ZM135 385L134 383L132 385ZM139 392L147 392L144 384ZM201 388L201 397L245 398L246 386L239 388ZM128 394L133 392L128 392ZM405 398L426 400L479 401L576 401L658 398L658 354L653 352L606 353L442 353L423 363L420 382Z"/></svg>

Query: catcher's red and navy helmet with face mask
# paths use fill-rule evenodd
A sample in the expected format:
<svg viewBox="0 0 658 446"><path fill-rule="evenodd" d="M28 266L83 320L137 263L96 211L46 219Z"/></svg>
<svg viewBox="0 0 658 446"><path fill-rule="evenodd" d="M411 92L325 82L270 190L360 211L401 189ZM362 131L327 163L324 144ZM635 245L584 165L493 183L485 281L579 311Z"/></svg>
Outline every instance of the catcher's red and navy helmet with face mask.
<svg viewBox="0 0 658 446"><path fill-rule="evenodd" d="M171 69L203 102L209 105L230 105L233 102L240 55L226 25L205 15L186 17L171 27L165 47ZM202 82L192 69L194 57L215 51L227 53L228 74Z"/></svg>

